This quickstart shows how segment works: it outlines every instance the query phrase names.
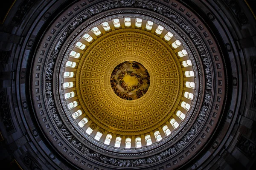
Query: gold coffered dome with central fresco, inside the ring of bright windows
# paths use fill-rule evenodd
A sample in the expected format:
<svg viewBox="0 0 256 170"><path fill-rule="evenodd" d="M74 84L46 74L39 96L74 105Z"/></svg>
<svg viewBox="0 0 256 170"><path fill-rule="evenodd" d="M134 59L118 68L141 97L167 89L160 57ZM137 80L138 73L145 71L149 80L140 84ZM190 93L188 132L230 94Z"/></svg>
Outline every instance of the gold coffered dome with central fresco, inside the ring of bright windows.
<svg viewBox="0 0 256 170"><path fill-rule="evenodd" d="M133 62L141 70L130 69L128 64ZM121 77L115 75L120 64L126 65L118 72L123 71ZM141 72L148 73L148 77ZM84 113L103 129L141 134L167 122L175 112L183 91L182 75L175 52L163 39L127 28L105 34L88 46L77 70L76 91ZM111 85L114 77L116 84ZM124 82L130 88L135 86L125 92ZM125 98L118 96L122 90L127 94L131 90L135 94L144 92Z"/></svg>

